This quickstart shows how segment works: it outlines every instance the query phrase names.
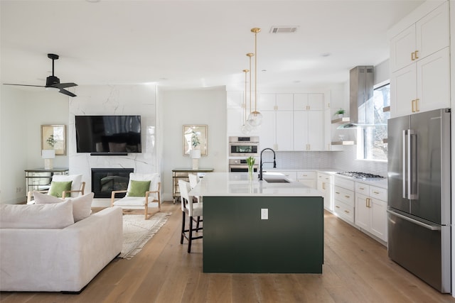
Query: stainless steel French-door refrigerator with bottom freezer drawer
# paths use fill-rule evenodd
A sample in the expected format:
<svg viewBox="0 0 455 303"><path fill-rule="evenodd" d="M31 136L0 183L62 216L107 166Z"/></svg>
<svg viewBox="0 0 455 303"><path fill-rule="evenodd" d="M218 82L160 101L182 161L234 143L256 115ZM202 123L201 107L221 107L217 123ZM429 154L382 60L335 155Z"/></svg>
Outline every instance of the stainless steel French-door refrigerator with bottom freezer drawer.
<svg viewBox="0 0 455 303"><path fill-rule="evenodd" d="M451 292L450 109L388 121L388 255Z"/></svg>

